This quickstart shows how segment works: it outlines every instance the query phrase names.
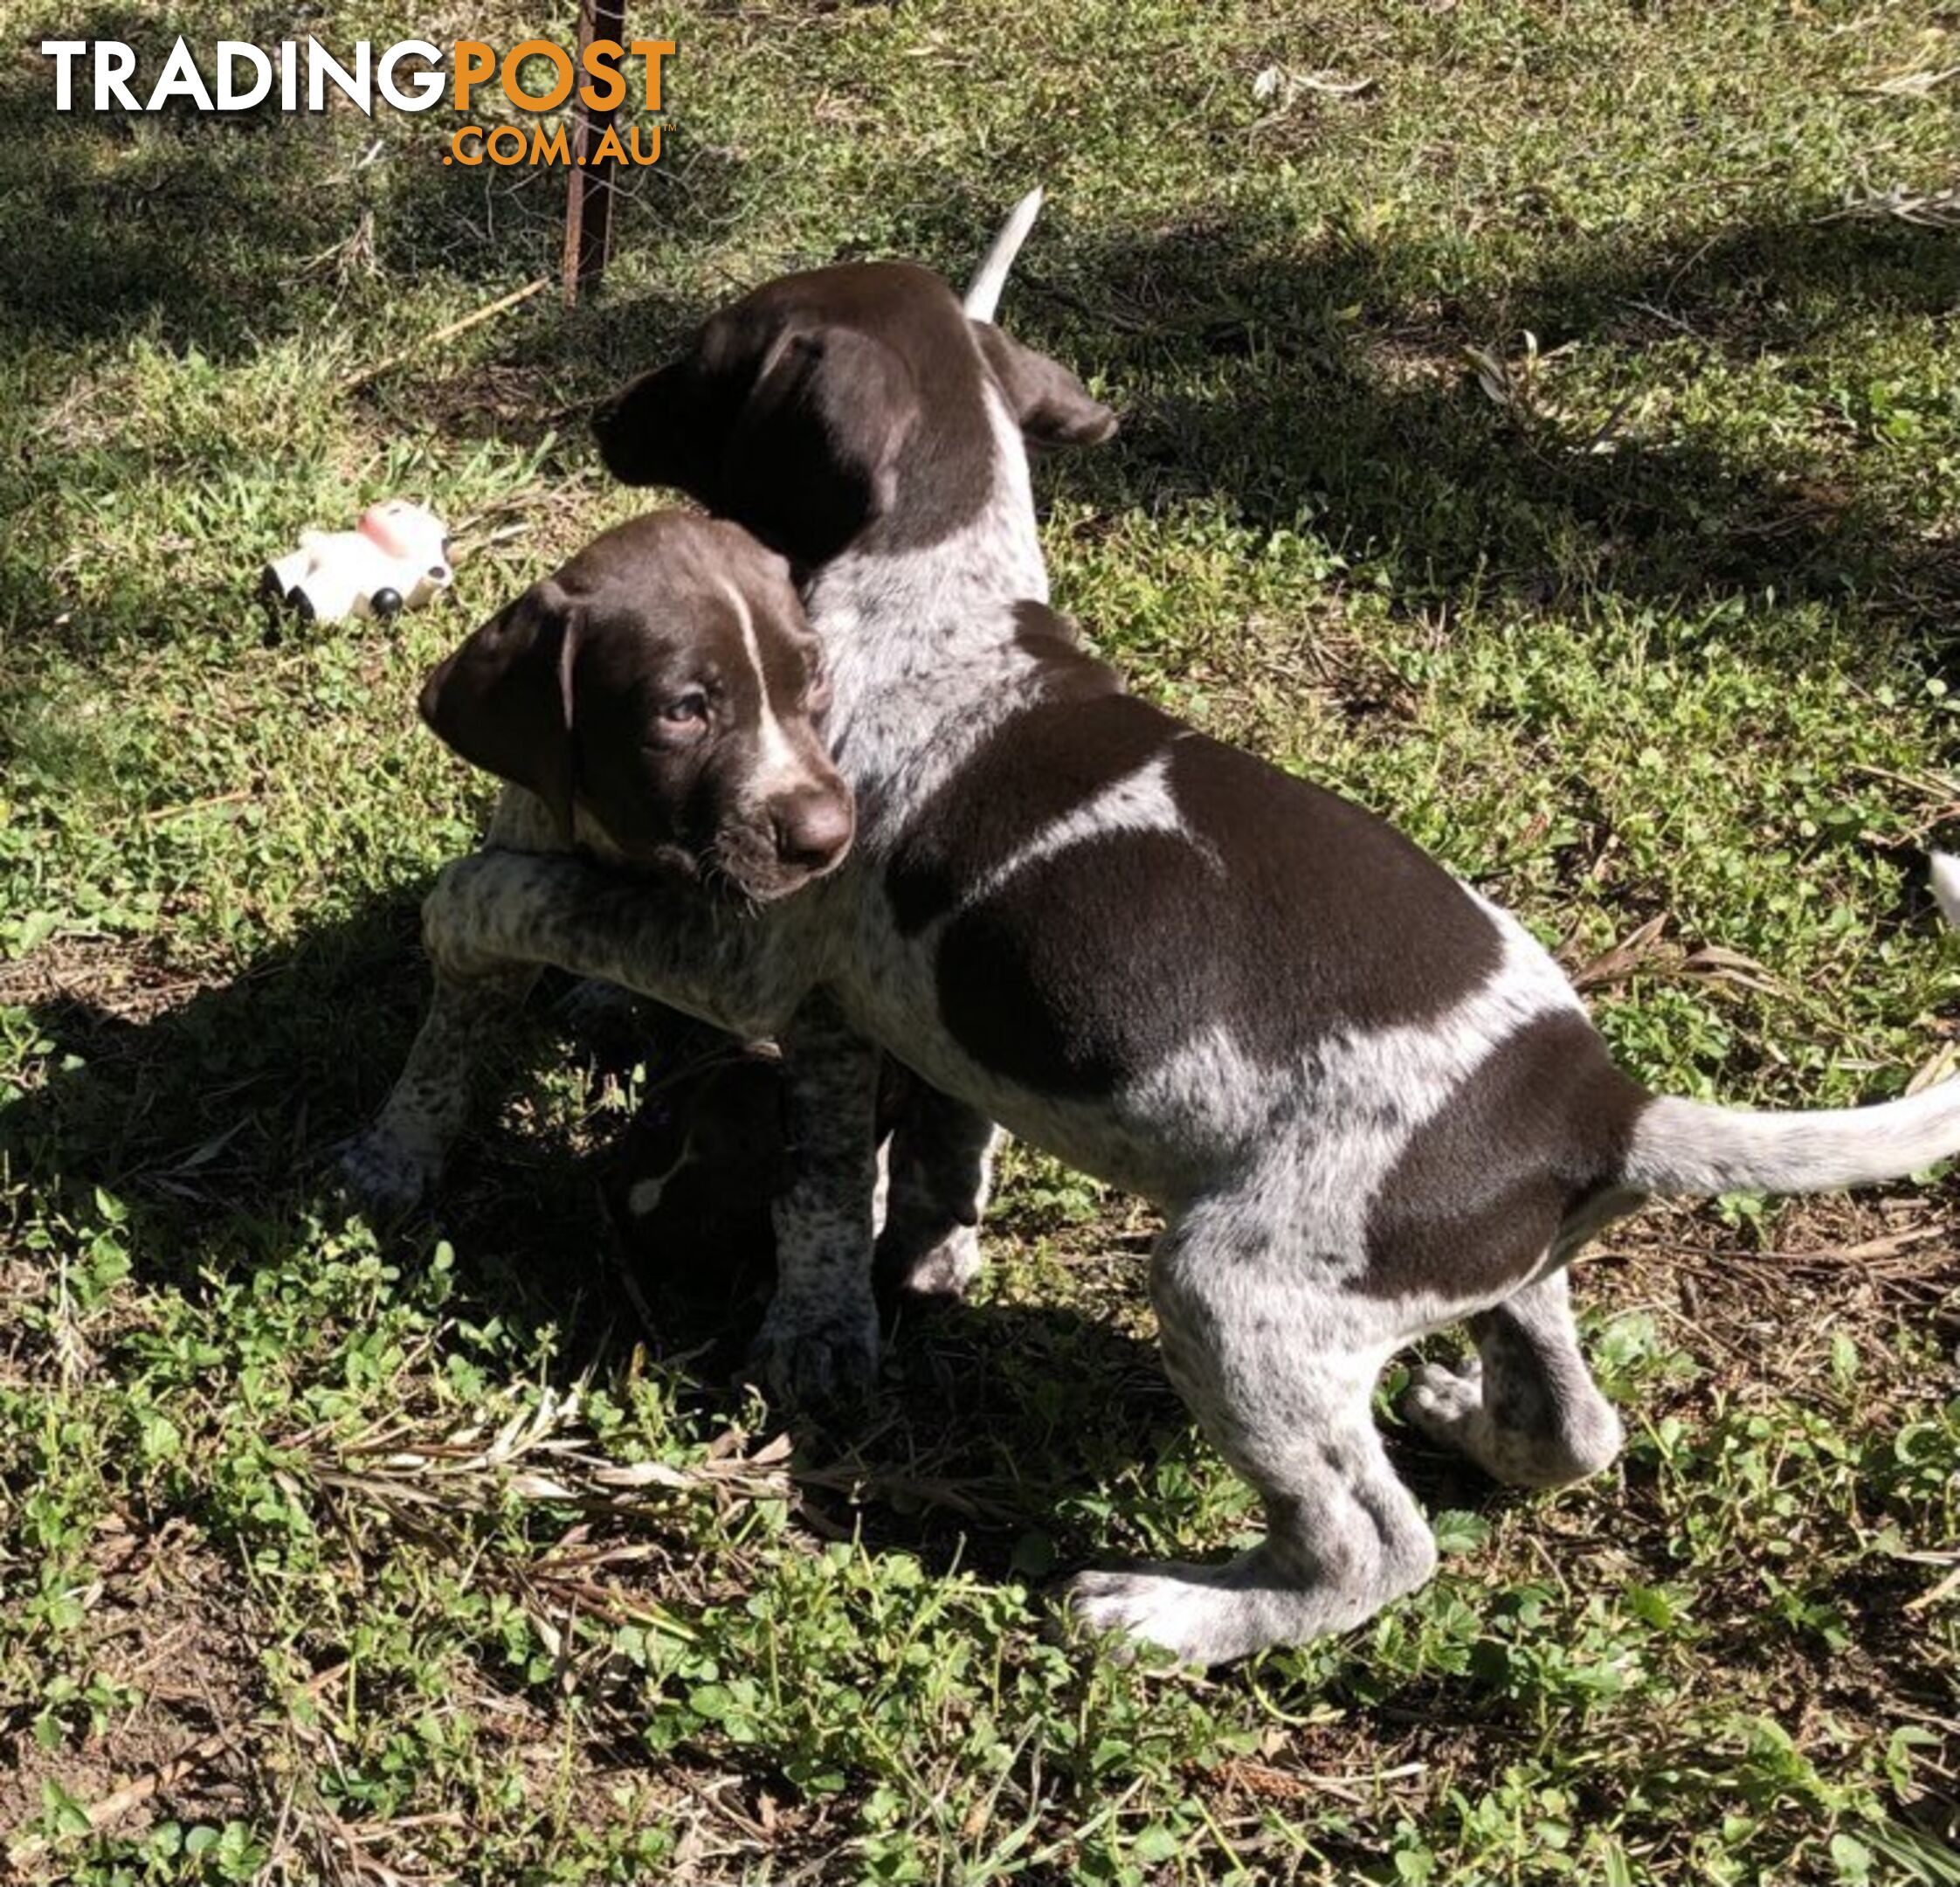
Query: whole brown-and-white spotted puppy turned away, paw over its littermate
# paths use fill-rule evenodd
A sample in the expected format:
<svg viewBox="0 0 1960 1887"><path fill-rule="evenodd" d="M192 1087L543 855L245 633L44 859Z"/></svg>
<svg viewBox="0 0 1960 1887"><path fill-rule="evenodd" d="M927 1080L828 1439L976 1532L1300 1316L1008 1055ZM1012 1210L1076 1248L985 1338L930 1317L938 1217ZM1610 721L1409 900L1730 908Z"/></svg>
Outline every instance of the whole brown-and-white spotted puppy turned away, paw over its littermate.
<svg viewBox="0 0 1960 1887"><path fill-rule="evenodd" d="M1168 1372L1260 1491L1221 1566L1092 1572L1076 1613L1211 1664L1366 1619L1435 1544L1370 1419L1384 1362L1468 1319L1407 1413L1494 1476L1603 1468L1566 1260L1650 1195L1809 1191L1960 1150L1960 1084L1846 1113L1656 1097L1550 956L1372 813L1123 694L1047 607L1027 447L1107 411L923 268L745 296L600 417L804 572L851 860L757 919L564 858L451 866L451 978L555 962L782 1033L804 1170L770 1332L862 1368L882 1044L1164 1213Z"/></svg>

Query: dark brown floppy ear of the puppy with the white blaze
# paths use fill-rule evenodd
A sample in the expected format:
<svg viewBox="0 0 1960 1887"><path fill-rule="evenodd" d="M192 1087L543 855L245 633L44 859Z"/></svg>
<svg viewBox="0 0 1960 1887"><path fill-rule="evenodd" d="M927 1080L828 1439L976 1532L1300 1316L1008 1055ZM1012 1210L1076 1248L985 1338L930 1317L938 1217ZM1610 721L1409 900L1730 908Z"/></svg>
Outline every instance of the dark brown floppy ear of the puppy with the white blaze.
<svg viewBox="0 0 1960 1887"><path fill-rule="evenodd" d="M533 584L421 684L421 719L472 766L537 794L572 843L572 658L578 617Z"/></svg>

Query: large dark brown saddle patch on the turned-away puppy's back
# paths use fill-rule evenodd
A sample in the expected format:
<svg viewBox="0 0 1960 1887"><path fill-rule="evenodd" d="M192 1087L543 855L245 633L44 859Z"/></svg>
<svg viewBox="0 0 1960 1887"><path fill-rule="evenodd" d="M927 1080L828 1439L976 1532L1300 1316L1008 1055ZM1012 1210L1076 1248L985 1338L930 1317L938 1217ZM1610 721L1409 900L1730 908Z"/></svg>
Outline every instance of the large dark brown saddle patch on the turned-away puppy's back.
<svg viewBox="0 0 1960 1887"><path fill-rule="evenodd" d="M1151 762L1184 831L1111 825L968 901ZM953 913L939 1003L966 1052L1049 1093L1107 1091L1221 1025L1298 1066L1333 1031L1441 1015L1499 960L1488 915L1392 827L1121 694L1062 692L998 729L886 890L913 935Z"/></svg>

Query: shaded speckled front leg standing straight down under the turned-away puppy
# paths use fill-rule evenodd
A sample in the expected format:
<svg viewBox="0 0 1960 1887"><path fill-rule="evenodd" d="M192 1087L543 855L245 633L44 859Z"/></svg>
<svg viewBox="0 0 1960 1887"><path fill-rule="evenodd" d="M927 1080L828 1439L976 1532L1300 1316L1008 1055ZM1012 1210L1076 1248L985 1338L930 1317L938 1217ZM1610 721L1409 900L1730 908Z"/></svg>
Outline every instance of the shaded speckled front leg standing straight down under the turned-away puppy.
<svg viewBox="0 0 1960 1887"><path fill-rule="evenodd" d="M821 992L782 1037L786 1185L776 1195L776 1295L753 1366L792 1401L862 1393L878 1374L872 1195L878 1050Z"/></svg>

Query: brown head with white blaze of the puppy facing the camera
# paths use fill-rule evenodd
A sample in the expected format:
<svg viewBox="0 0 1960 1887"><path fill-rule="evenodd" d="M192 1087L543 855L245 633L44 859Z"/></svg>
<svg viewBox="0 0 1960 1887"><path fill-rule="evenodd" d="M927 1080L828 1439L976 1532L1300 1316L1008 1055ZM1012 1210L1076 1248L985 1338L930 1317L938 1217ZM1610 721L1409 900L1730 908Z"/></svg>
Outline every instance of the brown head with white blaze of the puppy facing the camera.
<svg viewBox="0 0 1960 1887"><path fill-rule="evenodd" d="M851 790L790 570L739 525L635 517L443 660L421 717L559 841L753 903L835 870Z"/></svg>

